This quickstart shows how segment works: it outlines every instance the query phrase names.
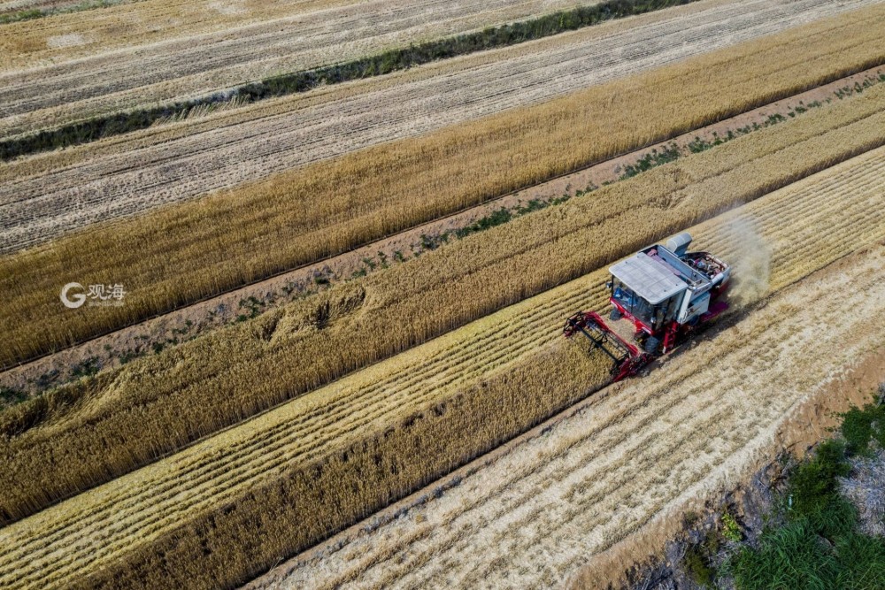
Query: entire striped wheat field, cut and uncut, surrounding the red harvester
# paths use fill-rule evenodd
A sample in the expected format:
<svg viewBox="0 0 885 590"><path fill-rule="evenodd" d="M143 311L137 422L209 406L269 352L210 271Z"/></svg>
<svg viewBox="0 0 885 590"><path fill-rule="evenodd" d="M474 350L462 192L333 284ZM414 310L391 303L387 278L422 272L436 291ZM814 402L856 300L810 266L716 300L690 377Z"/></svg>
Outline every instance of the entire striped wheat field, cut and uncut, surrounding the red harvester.
<svg viewBox="0 0 885 590"><path fill-rule="evenodd" d="M881 364L883 0L97 4L0 0L0 141L521 32L0 165L0 588L600 586ZM682 231L730 308L612 385L565 320Z"/></svg>

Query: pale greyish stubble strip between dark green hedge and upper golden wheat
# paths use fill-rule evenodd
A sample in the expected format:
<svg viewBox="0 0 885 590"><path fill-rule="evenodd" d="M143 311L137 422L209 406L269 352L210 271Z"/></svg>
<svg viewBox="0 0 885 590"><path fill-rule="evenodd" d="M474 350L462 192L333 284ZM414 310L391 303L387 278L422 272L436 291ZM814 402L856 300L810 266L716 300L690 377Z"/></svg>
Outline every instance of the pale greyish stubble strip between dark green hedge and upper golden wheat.
<svg viewBox="0 0 885 590"><path fill-rule="evenodd" d="M542 103L579 88L873 4L879 3L755 0L713 6L690 17L636 27L593 42L572 44L569 40L580 38L581 32L564 34L558 47L541 54L397 84L377 93L207 129L151 146L121 149L80 165L10 180L0 187L0 226L4 228L0 250L21 249L96 221L265 179L497 111Z"/></svg>

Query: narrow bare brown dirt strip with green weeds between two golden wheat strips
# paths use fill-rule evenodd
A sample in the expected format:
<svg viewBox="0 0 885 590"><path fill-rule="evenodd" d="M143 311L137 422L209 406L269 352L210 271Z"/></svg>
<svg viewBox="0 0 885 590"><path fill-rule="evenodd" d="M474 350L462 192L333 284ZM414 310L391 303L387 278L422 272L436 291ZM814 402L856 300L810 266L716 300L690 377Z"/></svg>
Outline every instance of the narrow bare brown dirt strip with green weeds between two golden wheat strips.
<svg viewBox="0 0 885 590"><path fill-rule="evenodd" d="M786 117L798 105L832 98L837 90L851 88L856 83L863 83L865 80L878 78L882 73L885 73L885 70L876 67L841 80L836 80L799 95L790 96L788 99L777 103L770 103L736 117L723 119L713 125L698 128L688 134L675 137L673 140L660 142L648 148L612 158L598 165L592 165L582 171L567 174L556 180L549 180L535 187L504 195L488 203L471 207L466 211L461 211L446 218L437 218L400 234L389 236L384 240L366 244L351 252L328 257L317 263L283 272L272 278L227 292L224 295L217 295L202 302L190 304L184 308L159 315L156 318L143 320L134 326L128 326L98 336L93 340L81 342L69 349L50 353L25 364L19 364L16 367L12 367L12 369L0 372L0 386L20 391L36 392L35 383L41 383L45 379L45 375L50 374L50 372L58 372L58 378L53 383L42 386L42 388L54 387L55 385L65 383L71 379L66 374L70 371L70 368L80 365L87 359L98 359L104 369L117 364L120 356L131 354L133 349L140 347L143 350L148 350L155 343L158 345L163 344L182 331L187 331L188 336L192 337L196 333L205 333L217 329L219 326L234 322L239 315L241 307L239 302L248 301L250 297L266 303L262 307L262 311L274 309L289 301L292 285L305 286L297 287L296 293L302 293L303 289L310 292L318 272L322 272L327 276L331 275L331 280L346 279L355 272L364 269L365 264L363 261L366 258L377 257L379 252L383 252L390 260L396 260L397 252L415 251L416 245L421 243L420 236L422 235L435 236L445 231L469 226L501 207L512 208L520 203L528 203L534 199L546 200L564 194L574 195L577 190L581 190L591 183L595 186L602 186L604 183L619 180L625 165L635 164L641 158L648 156L653 150L661 151L671 144L684 147L698 136L712 142L717 137L717 134L720 137L725 137L729 131L734 131L736 128L744 125L752 123L762 124L766 118L775 113ZM270 295L268 299L268 294L273 295ZM211 317L210 312L214 314ZM190 322L190 324L187 324L187 322Z"/></svg>

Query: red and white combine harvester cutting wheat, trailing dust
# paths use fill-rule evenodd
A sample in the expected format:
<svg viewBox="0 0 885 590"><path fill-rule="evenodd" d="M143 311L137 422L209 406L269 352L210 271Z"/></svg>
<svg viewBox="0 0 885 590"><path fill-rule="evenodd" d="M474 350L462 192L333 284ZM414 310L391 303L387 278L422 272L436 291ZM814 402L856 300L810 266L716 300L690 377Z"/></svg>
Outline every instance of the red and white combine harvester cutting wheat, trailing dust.
<svg viewBox="0 0 885 590"><path fill-rule="evenodd" d="M612 357L612 378L635 375L646 364L687 340L727 310L722 296L731 267L709 252L689 252L691 236L682 233L609 269L605 284L612 296L611 318L624 335L595 311L579 311L566 320L566 338L584 334L592 346ZM628 342L631 338L635 344Z"/></svg>

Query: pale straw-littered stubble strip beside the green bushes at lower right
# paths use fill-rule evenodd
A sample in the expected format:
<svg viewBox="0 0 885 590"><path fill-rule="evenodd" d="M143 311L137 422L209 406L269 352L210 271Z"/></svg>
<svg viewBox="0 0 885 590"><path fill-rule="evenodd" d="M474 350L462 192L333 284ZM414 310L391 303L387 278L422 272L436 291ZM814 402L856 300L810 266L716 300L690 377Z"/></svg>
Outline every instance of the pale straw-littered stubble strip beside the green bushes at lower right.
<svg viewBox="0 0 885 590"><path fill-rule="evenodd" d="M734 485L791 410L881 347L883 263L880 245L800 281L650 376L483 459L441 498L247 587L563 584L673 505Z"/></svg>

